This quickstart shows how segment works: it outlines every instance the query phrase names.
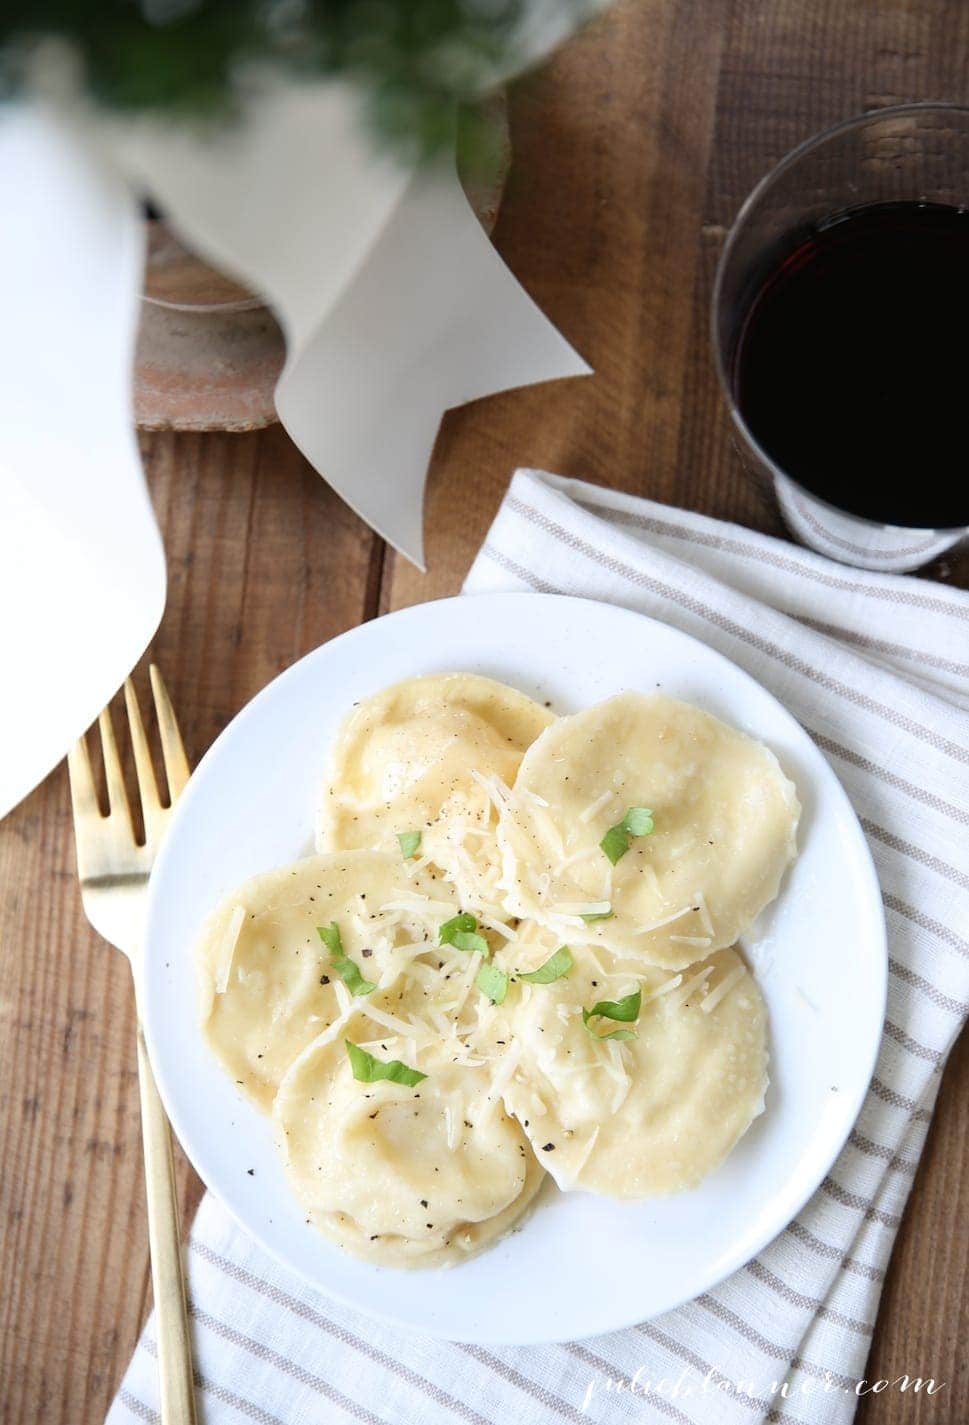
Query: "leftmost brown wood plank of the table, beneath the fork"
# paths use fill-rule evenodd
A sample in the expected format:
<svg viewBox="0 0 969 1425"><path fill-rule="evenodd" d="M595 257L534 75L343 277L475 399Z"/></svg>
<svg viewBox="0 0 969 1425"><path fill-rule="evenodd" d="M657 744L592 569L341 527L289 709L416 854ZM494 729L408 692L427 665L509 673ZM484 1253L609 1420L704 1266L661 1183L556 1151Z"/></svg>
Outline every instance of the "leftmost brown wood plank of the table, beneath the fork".
<svg viewBox="0 0 969 1425"><path fill-rule="evenodd" d="M151 657L195 760L373 611L382 546L279 428L151 436L144 456L170 573ZM94 1425L150 1284L128 966L81 911L63 768L0 825L0 1421ZM184 1159L178 1184L187 1221Z"/></svg>

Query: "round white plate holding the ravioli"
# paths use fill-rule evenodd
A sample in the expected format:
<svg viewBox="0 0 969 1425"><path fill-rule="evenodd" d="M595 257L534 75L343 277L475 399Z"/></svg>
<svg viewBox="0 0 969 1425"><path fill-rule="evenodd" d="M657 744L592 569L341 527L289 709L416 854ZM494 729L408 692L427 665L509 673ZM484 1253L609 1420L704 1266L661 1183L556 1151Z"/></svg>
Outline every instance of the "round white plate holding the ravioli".
<svg viewBox="0 0 969 1425"><path fill-rule="evenodd" d="M389 1271L304 1221L251 1107L202 1040L192 946L247 876L312 851L326 754L349 705L398 678L466 670L569 712L624 688L697 703L762 738L804 804L801 855L744 949L771 1016L767 1112L698 1188L644 1203L543 1190L524 1226L460 1267ZM363 624L269 684L201 761L151 878L151 1057L198 1173L242 1226L315 1287L455 1341L527 1344L644 1321L754 1257L812 1194L872 1074L886 985L875 871L834 772L794 718L694 638L628 610L479 594ZM249 1168L255 1168L251 1176ZM621 1263L621 1270L617 1270Z"/></svg>

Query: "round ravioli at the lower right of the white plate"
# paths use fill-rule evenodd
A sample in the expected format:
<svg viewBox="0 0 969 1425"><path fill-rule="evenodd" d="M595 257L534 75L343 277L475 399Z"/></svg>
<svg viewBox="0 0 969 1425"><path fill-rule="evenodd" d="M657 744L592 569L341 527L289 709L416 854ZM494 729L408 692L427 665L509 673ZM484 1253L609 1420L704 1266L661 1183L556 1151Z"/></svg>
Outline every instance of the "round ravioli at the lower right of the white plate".
<svg viewBox="0 0 969 1425"><path fill-rule="evenodd" d="M677 975L571 953L566 978L509 992L497 1023L519 1047L506 1107L563 1188L638 1198L695 1187L764 1107L767 1012L752 976L732 949ZM636 1020L583 1022L583 1007L637 989ZM636 1037L593 1037L616 1030Z"/></svg>

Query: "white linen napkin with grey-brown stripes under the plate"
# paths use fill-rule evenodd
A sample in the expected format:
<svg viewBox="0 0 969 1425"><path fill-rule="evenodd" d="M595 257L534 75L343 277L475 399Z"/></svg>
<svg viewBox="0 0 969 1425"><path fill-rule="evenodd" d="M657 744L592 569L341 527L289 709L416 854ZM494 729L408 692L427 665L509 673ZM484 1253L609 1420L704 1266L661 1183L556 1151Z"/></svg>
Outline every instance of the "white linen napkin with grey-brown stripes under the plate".
<svg viewBox="0 0 969 1425"><path fill-rule="evenodd" d="M372 1321L278 1267L209 1196L188 1244L204 1419L842 1425L969 1007L969 596L532 470L514 476L465 587L641 610L718 648L802 721L882 885L891 986L871 1092L829 1177L757 1260L687 1307L584 1342L450 1345ZM110 1425L158 1419L154 1354L150 1321Z"/></svg>

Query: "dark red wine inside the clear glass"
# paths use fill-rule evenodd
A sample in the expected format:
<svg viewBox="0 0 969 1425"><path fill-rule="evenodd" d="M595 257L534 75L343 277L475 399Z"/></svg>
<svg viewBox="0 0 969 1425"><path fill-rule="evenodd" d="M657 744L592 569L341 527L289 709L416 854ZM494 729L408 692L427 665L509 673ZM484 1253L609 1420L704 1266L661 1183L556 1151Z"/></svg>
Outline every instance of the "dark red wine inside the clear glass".
<svg viewBox="0 0 969 1425"><path fill-rule="evenodd" d="M969 212L851 208L768 254L734 343L761 449L885 524L969 524Z"/></svg>

